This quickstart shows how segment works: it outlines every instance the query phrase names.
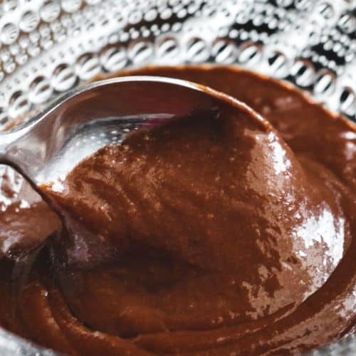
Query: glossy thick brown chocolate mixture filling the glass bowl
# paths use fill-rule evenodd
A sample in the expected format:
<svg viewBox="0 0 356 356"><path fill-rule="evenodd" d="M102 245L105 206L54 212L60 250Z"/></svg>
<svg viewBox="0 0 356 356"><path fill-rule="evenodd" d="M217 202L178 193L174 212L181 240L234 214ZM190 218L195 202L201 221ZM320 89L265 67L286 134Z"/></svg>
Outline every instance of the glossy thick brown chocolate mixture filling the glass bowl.
<svg viewBox="0 0 356 356"><path fill-rule="evenodd" d="M1 325L70 355L285 355L355 332L355 127L243 70L135 73L276 130L224 104L138 130L46 187L70 229L50 240L58 219L3 168Z"/></svg>

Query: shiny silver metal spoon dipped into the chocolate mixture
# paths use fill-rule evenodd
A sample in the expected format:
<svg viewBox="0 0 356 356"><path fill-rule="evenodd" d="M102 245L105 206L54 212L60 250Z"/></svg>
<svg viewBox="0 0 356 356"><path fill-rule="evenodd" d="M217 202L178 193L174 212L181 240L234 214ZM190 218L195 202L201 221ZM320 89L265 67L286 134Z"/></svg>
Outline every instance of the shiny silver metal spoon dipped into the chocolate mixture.
<svg viewBox="0 0 356 356"><path fill-rule="evenodd" d="M86 85L0 134L0 163L21 172L36 189L63 179L82 159L120 143L147 122L187 115L194 108L209 110L219 101L213 92L184 80L149 76Z"/></svg>

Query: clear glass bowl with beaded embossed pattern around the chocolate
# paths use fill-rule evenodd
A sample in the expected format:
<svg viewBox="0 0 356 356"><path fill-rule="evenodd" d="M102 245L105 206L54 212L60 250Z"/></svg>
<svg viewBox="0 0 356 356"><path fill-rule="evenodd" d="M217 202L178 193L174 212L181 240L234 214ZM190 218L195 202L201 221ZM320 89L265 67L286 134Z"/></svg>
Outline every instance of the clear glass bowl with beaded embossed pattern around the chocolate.
<svg viewBox="0 0 356 356"><path fill-rule="evenodd" d="M0 1L0 130L99 74L183 63L288 80L356 122L356 1ZM312 354L355 355L356 335ZM57 354L0 329L0 355Z"/></svg>

